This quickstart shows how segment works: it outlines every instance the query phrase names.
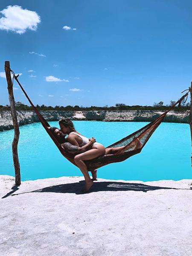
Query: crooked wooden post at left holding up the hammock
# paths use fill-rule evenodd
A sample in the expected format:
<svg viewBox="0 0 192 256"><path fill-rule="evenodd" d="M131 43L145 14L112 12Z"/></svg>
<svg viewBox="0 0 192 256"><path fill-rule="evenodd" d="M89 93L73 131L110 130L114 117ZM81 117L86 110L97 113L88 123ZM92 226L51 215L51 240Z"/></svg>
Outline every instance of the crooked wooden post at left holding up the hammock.
<svg viewBox="0 0 192 256"><path fill-rule="evenodd" d="M12 84L12 78L11 78L11 72L10 72L10 66L9 61L5 61L5 73L6 73L6 79L7 79L7 89L9 93L9 102L10 102L10 108L11 108L11 115L13 119L13 127L14 127L14 139L12 142L12 153L13 153L13 163L15 167L15 185L20 185L20 164L19 164L19 157L17 152L17 145L19 141L19 125L17 122L17 113L15 110L15 99L13 95L13 84Z"/></svg>

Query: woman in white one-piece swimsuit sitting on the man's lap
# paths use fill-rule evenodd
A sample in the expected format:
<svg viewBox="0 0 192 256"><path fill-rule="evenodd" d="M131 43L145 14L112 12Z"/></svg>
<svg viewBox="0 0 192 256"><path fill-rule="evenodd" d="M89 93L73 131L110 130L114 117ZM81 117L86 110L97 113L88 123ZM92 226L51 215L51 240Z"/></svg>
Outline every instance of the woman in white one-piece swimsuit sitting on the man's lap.
<svg viewBox="0 0 192 256"><path fill-rule="evenodd" d="M73 122L70 119L60 119L59 126L60 126L60 130L64 134L68 134L67 141L69 143L81 147L89 142L89 139L87 137L84 137L82 134L76 131L73 125ZM137 144L138 144L137 147L141 145L141 143L140 145L139 143ZM76 165L79 167L79 169L84 175L84 179L85 179L84 192L88 192L90 187L93 185L93 180L96 180L96 170L92 172L93 180L91 180L87 170L87 166L84 163L84 161L94 159L96 157L100 157L105 154L115 154L117 151L121 150L122 148L124 148L124 146L118 147L118 148L105 149L105 147L101 143L95 142L93 143L93 146L90 150L84 153L78 154L74 157L74 161Z"/></svg>

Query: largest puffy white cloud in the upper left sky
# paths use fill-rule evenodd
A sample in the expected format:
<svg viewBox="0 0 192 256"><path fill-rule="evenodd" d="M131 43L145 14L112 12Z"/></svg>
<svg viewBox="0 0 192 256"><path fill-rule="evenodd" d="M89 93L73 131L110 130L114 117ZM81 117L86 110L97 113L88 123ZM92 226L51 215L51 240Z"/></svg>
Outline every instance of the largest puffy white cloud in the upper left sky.
<svg viewBox="0 0 192 256"><path fill-rule="evenodd" d="M23 34L27 29L36 30L41 17L36 13L23 9L21 6L7 6L0 11L4 17L0 18L0 29Z"/></svg>

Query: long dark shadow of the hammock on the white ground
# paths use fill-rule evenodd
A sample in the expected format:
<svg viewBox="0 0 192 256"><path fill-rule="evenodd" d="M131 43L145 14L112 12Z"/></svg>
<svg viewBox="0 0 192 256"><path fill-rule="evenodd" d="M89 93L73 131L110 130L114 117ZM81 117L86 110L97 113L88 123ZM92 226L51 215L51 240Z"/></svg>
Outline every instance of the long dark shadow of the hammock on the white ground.
<svg viewBox="0 0 192 256"><path fill-rule="evenodd" d="M67 183L67 184L61 184L61 185L55 185L55 186L49 186L42 189L33 190L30 192L23 192L19 194L13 194L15 191L11 191L3 198L6 198L10 195L21 195L26 193L32 193L32 192L53 192L53 193L75 193L76 195L84 194L82 192L84 186L84 180L75 182L75 183ZM13 189L13 188L12 188ZM101 181L93 183L93 186L91 187L91 192L99 192L99 191L142 191L147 192L151 190L157 190L157 189L177 189L177 188L169 188L169 187L160 187L160 186L149 186L142 183L124 183L124 182L109 182L109 181ZM192 188L190 188L192 189Z"/></svg>

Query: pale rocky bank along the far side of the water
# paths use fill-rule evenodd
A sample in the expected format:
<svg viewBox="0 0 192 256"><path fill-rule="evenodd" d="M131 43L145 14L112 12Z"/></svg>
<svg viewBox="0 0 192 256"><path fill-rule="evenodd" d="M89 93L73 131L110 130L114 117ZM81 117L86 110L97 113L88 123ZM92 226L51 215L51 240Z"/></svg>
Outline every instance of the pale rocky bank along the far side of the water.
<svg viewBox="0 0 192 256"><path fill-rule="evenodd" d="M151 122L161 111L40 111L47 121L58 121L61 118L72 120L96 120L105 122ZM17 111L19 125L39 122L34 111ZM189 123L189 111L170 111L164 122ZM0 111L0 131L13 129L10 111Z"/></svg>

